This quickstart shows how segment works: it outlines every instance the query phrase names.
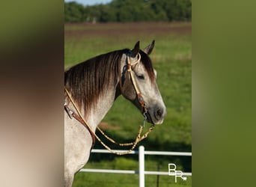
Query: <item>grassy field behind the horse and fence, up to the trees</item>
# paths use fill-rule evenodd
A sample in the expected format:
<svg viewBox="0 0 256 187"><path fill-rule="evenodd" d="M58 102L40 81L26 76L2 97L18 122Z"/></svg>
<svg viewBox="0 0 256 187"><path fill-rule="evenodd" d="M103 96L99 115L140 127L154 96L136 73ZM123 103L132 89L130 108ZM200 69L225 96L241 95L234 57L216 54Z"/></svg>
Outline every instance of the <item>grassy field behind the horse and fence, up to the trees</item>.
<svg viewBox="0 0 256 187"><path fill-rule="evenodd" d="M65 68L88 58L116 49L132 49L141 41L141 49L156 40L150 55L157 71L157 84L167 107L164 123L156 126L140 144L146 150L192 150L191 135L191 76L192 38L191 22L136 22L136 23L79 23L64 26ZM118 142L132 141L143 120L140 112L120 96L100 124L106 134ZM146 124L146 129L149 124ZM99 133L97 133L99 135ZM110 147L120 149L110 144ZM94 148L103 148L99 142ZM121 147L121 149L124 149ZM104 156L104 157L103 157ZM192 171L191 158L149 156L145 161L148 171L167 171L172 162L184 172ZM85 168L138 169L134 156L92 155ZM191 186L174 183L169 176L159 177L159 186ZM156 186L156 176L146 176L145 186ZM180 181L180 180L179 180ZM73 186L138 186L138 175L131 174L76 174Z"/></svg>

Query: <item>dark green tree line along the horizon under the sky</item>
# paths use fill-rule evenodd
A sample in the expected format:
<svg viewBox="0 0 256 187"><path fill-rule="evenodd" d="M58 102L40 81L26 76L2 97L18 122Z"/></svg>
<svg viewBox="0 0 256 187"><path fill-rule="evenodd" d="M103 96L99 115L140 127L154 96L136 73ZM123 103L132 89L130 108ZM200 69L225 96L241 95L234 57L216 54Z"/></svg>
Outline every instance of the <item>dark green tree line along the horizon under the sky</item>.
<svg viewBox="0 0 256 187"><path fill-rule="evenodd" d="M65 22L190 21L192 0L112 0L83 6L65 2Z"/></svg>

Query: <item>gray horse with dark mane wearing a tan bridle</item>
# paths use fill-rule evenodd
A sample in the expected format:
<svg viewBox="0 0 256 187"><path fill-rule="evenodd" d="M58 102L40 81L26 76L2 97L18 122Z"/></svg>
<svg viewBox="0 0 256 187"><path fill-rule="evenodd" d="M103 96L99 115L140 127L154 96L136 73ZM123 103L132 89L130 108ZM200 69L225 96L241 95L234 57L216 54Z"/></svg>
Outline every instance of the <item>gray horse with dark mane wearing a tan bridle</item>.
<svg viewBox="0 0 256 187"><path fill-rule="evenodd" d="M91 58L65 72L64 87L64 185L72 186L73 177L88 162L94 132L121 94L131 101L152 124L161 124L165 104L156 85L156 71L148 55L154 41L145 49L122 49ZM76 118L76 108L89 128Z"/></svg>

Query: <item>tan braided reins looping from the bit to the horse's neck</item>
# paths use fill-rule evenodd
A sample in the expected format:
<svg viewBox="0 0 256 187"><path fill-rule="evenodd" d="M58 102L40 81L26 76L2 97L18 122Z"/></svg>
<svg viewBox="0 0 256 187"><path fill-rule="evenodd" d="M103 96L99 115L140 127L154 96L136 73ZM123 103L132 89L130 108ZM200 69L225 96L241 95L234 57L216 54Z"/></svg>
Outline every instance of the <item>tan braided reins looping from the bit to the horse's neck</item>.
<svg viewBox="0 0 256 187"><path fill-rule="evenodd" d="M73 106L76 108L77 113L79 114L79 117L81 117L81 119L85 122L86 126L88 127L88 129L91 130L91 132L94 132L91 129L91 126L88 125L88 123L85 121L84 117L82 117L81 112L79 111L79 109L77 108L75 102L72 99L72 96L70 95L69 91L67 91L67 88L64 88L64 91L66 91L67 96L70 98L70 101L72 102ZM127 144L118 144L116 141L114 141L112 138L109 138L109 136L107 136L103 130L100 129L100 127L97 126L97 129L109 140L112 141L112 143L114 144L118 144L120 146L130 146L132 145L131 149L124 151L124 152L116 152L115 150L112 150L110 147L108 147L106 144L103 143L103 141L100 140L100 138L94 133L95 137L97 138L98 141L100 141L100 144L103 145L103 147L105 147L107 150L109 150L109 152L114 153L116 155L125 155L130 153L132 150L134 150L134 148L136 147L136 145L138 144L138 142L142 141L144 138L147 138L147 135L153 130L153 126L150 126L150 128L147 130L147 132L144 133L144 135L141 136L141 132L144 128L144 121L147 120L147 117L144 115L144 120L143 120L143 126L140 126L140 129L138 130L138 135L135 138L134 142L131 143L127 143Z"/></svg>

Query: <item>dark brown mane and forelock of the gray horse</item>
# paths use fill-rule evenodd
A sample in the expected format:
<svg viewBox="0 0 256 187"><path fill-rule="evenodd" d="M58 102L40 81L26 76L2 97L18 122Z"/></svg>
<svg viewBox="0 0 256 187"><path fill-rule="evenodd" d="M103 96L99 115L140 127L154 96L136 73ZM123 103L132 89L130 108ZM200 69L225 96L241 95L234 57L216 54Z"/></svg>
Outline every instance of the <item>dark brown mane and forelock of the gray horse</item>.
<svg viewBox="0 0 256 187"><path fill-rule="evenodd" d="M104 91L118 84L118 77L121 75L121 58L127 52L129 49L98 55L64 72L64 86L70 91L79 110L84 107L85 115L91 111L90 108ZM153 82L155 75L152 62L143 51L140 51L140 54L141 62Z"/></svg>

